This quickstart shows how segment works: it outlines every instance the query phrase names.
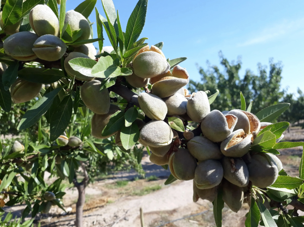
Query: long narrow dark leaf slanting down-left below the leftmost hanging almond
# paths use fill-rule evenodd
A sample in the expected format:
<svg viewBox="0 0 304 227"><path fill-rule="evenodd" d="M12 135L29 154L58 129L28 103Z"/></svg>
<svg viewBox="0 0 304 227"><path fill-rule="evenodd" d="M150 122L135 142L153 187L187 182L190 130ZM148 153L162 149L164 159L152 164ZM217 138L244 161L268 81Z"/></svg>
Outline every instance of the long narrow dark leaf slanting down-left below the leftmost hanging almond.
<svg viewBox="0 0 304 227"><path fill-rule="evenodd" d="M38 119L50 108L56 95L61 91L62 87L45 94L23 115L17 130L27 129L35 124Z"/></svg>

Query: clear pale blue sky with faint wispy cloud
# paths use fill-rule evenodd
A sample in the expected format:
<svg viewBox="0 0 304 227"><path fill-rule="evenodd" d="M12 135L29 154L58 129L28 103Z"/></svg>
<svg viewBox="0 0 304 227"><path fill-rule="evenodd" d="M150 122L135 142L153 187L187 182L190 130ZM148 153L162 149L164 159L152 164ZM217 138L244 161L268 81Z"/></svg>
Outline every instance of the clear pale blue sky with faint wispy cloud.
<svg viewBox="0 0 304 227"><path fill-rule="evenodd" d="M67 0L67 10L81 2ZM113 2L125 31L137 0ZM96 6L105 17L101 0ZM283 64L283 88L296 93L298 87L304 91L303 9L303 0L150 0L140 38L148 37L149 45L164 42L167 58L188 57L181 66L195 81L200 80L196 63L203 68L207 68L207 60L219 65L219 50L229 61L242 57L240 76L246 69L257 73L257 63L269 65L269 58L273 57L274 62ZM96 21L95 11L89 19ZM97 38L96 25L93 27ZM106 38L104 46L110 45Z"/></svg>

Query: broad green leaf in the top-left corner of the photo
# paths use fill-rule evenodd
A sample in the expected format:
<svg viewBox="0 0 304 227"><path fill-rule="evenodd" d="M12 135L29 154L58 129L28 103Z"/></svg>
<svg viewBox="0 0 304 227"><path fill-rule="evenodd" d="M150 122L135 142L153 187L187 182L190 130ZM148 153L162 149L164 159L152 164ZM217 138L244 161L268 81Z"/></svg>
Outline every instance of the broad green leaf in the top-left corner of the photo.
<svg viewBox="0 0 304 227"><path fill-rule="evenodd" d="M3 27L16 24L22 15L23 0L7 0L2 12Z"/></svg>

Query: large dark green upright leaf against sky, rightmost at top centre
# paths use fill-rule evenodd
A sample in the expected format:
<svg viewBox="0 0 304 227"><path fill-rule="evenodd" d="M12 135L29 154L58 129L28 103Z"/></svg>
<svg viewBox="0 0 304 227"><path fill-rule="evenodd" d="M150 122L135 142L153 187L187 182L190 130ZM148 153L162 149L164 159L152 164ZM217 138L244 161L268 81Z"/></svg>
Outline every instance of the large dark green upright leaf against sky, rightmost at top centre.
<svg viewBox="0 0 304 227"><path fill-rule="evenodd" d="M125 49L128 51L130 46L138 39L146 21L148 0L139 0L130 15L126 27Z"/></svg>

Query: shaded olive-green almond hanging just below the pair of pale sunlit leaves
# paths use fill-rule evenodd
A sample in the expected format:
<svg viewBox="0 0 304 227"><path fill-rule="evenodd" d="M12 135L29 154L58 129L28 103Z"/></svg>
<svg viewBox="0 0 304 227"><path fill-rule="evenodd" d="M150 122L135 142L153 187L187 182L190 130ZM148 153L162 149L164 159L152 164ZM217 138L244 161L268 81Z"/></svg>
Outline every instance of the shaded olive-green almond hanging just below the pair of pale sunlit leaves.
<svg viewBox="0 0 304 227"><path fill-rule="evenodd" d="M106 114L110 109L110 95L108 89L100 91L101 82L92 80L85 82L80 88L80 97L86 107L96 114Z"/></svg>

